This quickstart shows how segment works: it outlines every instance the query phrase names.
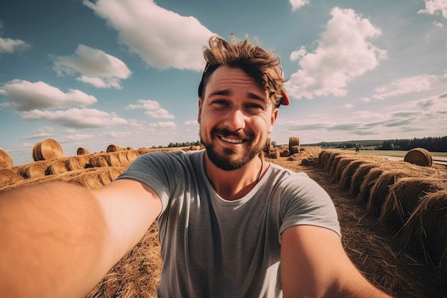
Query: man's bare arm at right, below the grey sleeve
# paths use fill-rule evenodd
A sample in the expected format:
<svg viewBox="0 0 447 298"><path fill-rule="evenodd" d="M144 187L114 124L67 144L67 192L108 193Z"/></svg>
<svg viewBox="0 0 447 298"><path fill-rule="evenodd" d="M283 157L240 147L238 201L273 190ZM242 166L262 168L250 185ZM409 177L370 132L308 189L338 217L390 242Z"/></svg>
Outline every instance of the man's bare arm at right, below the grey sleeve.
<svg viewBox="0 0 447 298"><path fill-rule="evenodd" d="M289 227L281 242L283 297L390 298L346 255L338 234L313 226Z"/></svg>

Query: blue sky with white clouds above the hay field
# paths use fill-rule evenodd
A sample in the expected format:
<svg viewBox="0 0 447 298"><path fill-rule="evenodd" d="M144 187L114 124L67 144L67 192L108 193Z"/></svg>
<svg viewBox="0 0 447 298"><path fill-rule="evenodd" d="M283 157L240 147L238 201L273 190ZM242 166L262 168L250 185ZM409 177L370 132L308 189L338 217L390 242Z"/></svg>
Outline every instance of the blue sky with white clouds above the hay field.
<svg viewBox="0 0 447 298"><path fill-rule="evenodd" d="M0 149L19 165L49 138L67 157L198 141L202 49L232 34L281 57L276 144L447 135L446 0L14 0Z"/></svg>

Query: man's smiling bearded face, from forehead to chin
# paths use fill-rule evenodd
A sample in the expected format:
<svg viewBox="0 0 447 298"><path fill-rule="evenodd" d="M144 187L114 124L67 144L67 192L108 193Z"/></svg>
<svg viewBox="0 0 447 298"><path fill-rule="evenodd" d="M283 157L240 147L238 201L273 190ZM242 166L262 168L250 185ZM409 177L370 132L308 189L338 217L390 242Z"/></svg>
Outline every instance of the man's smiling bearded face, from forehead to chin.
<svg viewBox="0 0 447 298"><path fill-rule="evenodd" d="M200 138L216 167L240 169L262 151L278 109L241 69L220 66L199 98Z"/></svg>

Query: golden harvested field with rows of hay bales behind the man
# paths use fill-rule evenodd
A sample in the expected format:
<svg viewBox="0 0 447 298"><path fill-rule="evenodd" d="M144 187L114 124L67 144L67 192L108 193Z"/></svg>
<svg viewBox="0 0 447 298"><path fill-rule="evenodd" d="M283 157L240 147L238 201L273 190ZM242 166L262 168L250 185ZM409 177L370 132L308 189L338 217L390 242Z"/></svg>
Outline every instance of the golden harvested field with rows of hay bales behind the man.
<svg viewBox="0 0 447 298"><path fill-rule="evenodd" d="M59 156L13 167L8 181L6 169L0 169L0 191L49 180L99 188L140 154L152 151L114 146L107 152L85 152L76 161ZM301 146L292 155L285 148L268 151L268 162L306 172L331 195L343 247L373 284L396 297L447 297L446 167L391 161L367 150L356 154ZM88 297L156 297L161 264L154 224Z"/></svg>

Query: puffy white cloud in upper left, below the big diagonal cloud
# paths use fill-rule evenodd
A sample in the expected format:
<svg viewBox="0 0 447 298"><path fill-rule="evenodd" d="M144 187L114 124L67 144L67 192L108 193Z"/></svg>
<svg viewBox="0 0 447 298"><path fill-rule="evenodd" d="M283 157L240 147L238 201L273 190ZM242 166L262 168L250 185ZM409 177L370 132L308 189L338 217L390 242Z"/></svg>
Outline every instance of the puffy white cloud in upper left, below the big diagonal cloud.
<svg viewBox="0 0 447 298"><path fill-rule="evenodd" d="M74 56L56 57L54 70L59 76L81 74L76 78L78 81L97 88L121 89L120 79L131 76L131 71L123 61L84 44L79 44Z"/></svg>

